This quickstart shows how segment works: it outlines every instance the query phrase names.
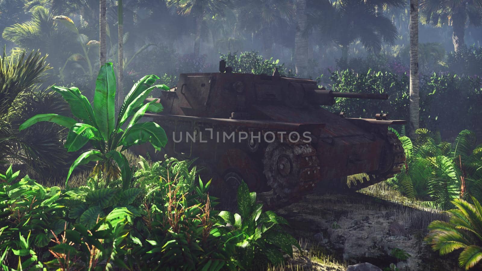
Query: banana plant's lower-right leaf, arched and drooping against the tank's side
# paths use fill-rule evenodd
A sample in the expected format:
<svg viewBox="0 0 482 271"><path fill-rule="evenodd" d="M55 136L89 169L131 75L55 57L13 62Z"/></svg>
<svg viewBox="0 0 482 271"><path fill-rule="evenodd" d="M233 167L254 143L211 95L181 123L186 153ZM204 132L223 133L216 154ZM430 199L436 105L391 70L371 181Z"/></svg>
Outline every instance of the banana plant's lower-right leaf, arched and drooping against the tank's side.
<svg viewBox="0 0 482 271"><path fill-rule="evenodd" d="M121 145L124 150L145 142L150 142L155 149L161 150L167 143L166 132L155 122L137 123L122 136Z"/></svg>

